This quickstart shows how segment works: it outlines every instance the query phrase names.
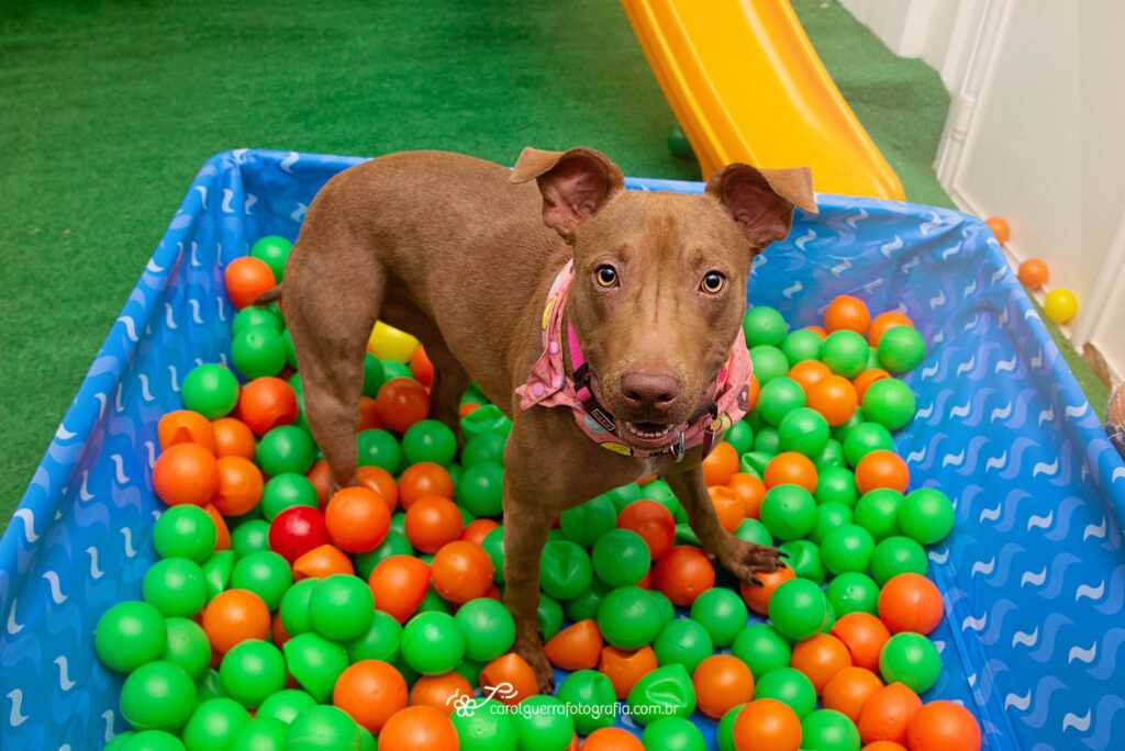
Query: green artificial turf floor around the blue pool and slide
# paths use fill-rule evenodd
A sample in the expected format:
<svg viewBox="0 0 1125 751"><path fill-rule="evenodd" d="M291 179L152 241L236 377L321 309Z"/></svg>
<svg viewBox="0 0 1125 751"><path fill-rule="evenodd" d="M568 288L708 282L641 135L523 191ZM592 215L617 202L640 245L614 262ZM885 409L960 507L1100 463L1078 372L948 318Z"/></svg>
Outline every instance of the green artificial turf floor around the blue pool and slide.
<svg viewBox="0 0 1125 751"><path fill-rule="evenodd" d="M836 2L794 4L907 197L948 206L937 74ZM0 63L0 518L215 152L590 145L627 174L699 174L610 0L7 3Z"/></svg>

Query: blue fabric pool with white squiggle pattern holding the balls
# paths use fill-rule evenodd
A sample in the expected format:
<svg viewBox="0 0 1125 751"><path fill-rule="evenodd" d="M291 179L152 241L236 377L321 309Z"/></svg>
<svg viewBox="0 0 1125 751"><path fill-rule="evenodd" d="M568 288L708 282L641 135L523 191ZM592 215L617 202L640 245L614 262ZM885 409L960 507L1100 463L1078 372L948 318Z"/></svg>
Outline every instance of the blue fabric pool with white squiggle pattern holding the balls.
<svg viewBox="0 0 1125 751"><path fill-rule="evenodd" d="M156 420L184 373L227 355L224 265L262 235L295 238L321 186L359 161L238 150L199 172L0 541L0 748L94 749L126 729L91 635L154 559ZM811 324L857 295L932 343L907 379L918 418L898 436L916 483L956 504L930 551L945 670L924 698L963 703L991 749L1123 748L1125 465L984 225L820 206L759 257L749 297Z"/></svg>

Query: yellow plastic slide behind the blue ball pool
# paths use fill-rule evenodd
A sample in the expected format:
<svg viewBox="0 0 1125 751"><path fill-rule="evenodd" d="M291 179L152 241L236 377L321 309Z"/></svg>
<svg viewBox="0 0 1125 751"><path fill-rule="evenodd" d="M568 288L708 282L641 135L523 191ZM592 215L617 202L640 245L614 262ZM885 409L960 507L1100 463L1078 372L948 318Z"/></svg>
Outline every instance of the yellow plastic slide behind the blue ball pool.
<svg viewBox="0 0 1125 751"><path fill-rule="evenodd" d="M789 0L622 0L706 179L808 164L818 191L902 200Z"/></svg>

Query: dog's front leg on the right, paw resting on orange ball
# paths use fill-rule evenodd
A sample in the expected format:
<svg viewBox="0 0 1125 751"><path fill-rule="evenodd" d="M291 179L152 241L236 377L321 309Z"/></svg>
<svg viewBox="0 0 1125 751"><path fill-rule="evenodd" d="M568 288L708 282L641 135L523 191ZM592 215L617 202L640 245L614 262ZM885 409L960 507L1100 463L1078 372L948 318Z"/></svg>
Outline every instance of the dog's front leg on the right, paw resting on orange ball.
<svg viewBox="0 0 1125 751"><path fill-rule="evenodd" d="M739 581L760 585L755 573L773 571L778 565L784 565L776 548L739 540L722 528L706 491L702 467L696 464L683 472L665 474L664 478L687 513L687 521L703 550L714 555Z"/></svg>

